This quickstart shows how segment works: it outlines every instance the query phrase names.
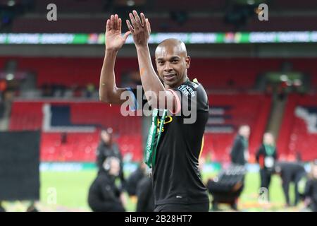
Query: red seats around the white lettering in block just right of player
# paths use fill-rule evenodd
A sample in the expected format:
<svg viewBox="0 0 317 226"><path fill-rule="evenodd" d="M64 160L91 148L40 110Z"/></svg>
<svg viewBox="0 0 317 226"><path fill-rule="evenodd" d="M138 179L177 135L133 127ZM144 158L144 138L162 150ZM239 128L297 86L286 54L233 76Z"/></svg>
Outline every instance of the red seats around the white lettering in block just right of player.
<svg viewBox="0 0 317 226"><path fill-rule="evenodd" d="M228 161L237 128L242 124L251 127L249 151L251 155L254 155L266 129L271 108L271 97L265 95L209 95L209 105L211 107L230 107L228 114L232 119L229 119L228 124L232 124L234 130L230 133L205 133L202 155L211 154L213 160Z"/></svg>

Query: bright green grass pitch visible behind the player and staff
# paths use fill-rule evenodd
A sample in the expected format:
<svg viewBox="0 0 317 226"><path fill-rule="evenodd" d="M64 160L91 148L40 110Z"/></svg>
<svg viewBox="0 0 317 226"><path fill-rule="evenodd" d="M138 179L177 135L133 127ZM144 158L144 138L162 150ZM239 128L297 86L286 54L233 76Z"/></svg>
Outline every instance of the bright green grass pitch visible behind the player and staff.
<svg viewBox="0 0 317 226"><path fill-rule="evenodd" d="M42 172L41 173L41 201L40 206L46 210L58 211L89 211L87 195L89 186L94 180L97 172L85 170L80 172ZM203 174L203 179L212 177L213 174ZM290 188L292 191L292 186ZM56 199L54 192L56 191ZM261 205L259 203L259 174L248 173L245 180L244 191L240 196L239 208L246 211L272 211L284 210L285 198L282 194L280 178L273 176L271 182L271 204ZM291 198L293 198L291 192ZM53 198L52 198L53 197ZM135 201L127 197L128 211L135 210ZM54 203L56 201L56 203ZM229 210L223 205L224 210Z"/></svg>

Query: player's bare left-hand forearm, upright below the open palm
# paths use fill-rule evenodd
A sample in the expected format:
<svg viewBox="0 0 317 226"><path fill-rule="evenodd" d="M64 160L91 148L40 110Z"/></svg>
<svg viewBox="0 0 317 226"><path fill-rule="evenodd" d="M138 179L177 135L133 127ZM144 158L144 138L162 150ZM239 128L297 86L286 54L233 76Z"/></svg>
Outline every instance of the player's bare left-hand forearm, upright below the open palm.
<svg viewBox="0 0 317 226"><path fill-rule="evenodd" d="M111 94L116 90L114 66L117 53L116 50L106 50L105 52L99 84L99 97L101 101L107 102Z"/></svg>

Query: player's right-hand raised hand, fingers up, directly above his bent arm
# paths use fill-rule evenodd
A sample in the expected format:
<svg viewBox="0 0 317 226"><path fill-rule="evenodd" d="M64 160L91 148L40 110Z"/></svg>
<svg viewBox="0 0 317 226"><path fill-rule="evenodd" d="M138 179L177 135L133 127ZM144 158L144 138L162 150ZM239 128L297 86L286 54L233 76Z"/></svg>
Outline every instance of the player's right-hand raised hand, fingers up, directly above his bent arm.
<svg viewBox="0 0 317 226"><path fill-rule="evenodd" d="M149 20L145 18L143 13L140 13L140 17L137 11L129 13L130 20L126 20L128 28L132 33L135 46L147 46L149 42L149 35L151 34L151 25Z"/></svg>

